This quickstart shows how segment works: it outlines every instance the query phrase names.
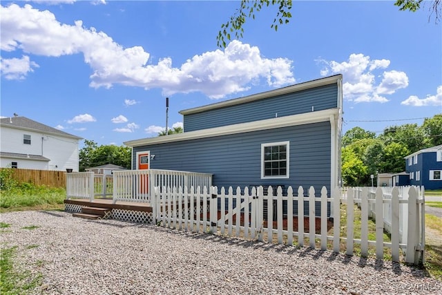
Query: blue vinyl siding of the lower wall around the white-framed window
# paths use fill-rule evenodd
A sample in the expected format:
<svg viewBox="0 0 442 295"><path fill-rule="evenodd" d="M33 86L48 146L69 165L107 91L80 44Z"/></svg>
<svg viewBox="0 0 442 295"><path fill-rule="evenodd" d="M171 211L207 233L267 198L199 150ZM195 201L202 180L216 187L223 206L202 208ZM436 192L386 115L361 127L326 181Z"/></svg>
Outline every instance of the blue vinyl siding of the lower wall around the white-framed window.
<svg viewBox="0 0 442 295"><path fill-rule="evenodd" d="M290 177L261 179L261 144L290 142ZM213 185L238 187L250 185L299 186L311 185L320 192L330 189L330 123L320 122L279 129L169 142L133 149L151 151L151 169L169 169L213 173ZM135 166L135 156L133 166Z"/></svg>

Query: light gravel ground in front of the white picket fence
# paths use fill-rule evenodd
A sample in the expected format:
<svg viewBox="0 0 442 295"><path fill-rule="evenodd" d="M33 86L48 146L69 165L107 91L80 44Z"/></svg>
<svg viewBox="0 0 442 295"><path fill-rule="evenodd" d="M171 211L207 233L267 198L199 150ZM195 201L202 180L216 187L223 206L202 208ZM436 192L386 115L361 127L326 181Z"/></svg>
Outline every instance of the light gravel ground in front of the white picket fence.
<svg viewBox="0 0 442 295"><path fill-rule="evenodd" d="M43 276L30 294L441 294L421 269L317 249L61 211L1 214L1 247ZM35 229L23 227L37 226Z"/></svg>

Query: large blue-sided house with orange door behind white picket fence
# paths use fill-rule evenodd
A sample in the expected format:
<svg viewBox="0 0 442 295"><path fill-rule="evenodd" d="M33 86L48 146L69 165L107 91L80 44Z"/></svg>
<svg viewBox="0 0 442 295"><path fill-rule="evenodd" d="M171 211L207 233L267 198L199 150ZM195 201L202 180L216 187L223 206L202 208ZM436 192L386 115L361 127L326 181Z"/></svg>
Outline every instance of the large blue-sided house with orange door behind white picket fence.
<svg viewBox="0 0 442 295"><path fill-rule="evenodd" d="M180 111L184 133L124 142L132 169L212 173L220 187L338 187L342 75Z"/></svg>

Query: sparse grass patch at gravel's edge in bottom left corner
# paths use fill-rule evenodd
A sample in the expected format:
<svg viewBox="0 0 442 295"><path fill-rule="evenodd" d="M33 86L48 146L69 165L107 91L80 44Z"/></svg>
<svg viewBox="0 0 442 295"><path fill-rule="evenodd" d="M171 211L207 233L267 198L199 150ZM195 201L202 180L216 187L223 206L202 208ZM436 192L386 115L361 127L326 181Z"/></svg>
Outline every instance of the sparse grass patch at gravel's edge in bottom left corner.
<svg viewBox="0 0 442 295"><path fill-rule="evenodd" d="M28 294L41 285L41 274L19 272L14 268L18 247L0 249L0 294Z"/></svg>

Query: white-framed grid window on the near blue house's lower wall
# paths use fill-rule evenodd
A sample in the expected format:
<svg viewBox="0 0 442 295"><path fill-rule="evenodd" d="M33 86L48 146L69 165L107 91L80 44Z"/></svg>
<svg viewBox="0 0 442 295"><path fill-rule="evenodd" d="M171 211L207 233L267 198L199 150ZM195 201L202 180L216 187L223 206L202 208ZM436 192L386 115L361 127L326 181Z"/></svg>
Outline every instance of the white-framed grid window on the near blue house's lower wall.
<svg viewBox="0 0 442 295"><path fill-rule="evenodd" d="M289 142L261 144L261 178L289 178Z"/></svg>

